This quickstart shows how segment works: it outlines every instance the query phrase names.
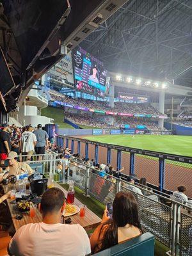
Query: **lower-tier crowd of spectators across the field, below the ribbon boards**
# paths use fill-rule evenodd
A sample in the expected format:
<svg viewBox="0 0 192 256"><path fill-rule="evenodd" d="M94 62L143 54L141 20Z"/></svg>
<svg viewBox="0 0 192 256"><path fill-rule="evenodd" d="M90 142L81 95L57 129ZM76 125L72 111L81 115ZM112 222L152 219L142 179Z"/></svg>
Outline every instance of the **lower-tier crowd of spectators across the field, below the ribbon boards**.
<svg viewBox="0 0 192 256"><path fill-rule="evenodd" d="M65 118L77 125L86 125L91 127L98 127L101 129L120 129L128 124L131 128L137 128L138 125L145 125L150 131L166 131L165 128L161 129L155 122L149 122L148 120L138 118L126 118L116 116L113 124L104 122L103 116L99 115L88 115L88 114L76 114L76 113L65 113Z"/></svg>

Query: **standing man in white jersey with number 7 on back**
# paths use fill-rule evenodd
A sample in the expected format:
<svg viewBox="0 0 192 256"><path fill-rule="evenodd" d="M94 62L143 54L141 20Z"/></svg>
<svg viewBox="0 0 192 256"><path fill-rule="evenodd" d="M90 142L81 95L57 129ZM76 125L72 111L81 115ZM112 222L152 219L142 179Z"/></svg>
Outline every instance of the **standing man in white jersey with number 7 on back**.
<svg viewBox="0 0 192 256"><path fill-rule="evenodd" d="M30 161L33 152L35 151L36 136L32 132L34 128L29 125L27 131L22 133L21 137L21 152L23 155L28 155L27 160Z"/></svg>

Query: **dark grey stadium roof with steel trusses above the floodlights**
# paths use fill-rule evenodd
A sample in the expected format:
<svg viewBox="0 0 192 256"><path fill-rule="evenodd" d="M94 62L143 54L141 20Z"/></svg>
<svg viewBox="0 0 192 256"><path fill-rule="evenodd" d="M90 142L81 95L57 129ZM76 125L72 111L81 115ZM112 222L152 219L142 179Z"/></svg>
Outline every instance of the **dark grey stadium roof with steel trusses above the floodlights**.
<svg viewBox="0 0 192 256"><path fill-rule="evenodd" d="M191 34L191 0L130 0L81 47L111 72L192 86Z"/></svg>

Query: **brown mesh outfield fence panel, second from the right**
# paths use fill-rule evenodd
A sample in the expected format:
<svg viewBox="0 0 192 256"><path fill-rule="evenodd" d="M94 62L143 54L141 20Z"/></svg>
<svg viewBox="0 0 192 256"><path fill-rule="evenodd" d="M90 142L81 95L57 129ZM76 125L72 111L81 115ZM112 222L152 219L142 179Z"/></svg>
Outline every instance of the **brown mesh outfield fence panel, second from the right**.
<svg viewBox="0 0 192 256"><path fill-rule="evenodd" d="M159 159L138 154L134 157L134 172L138 179L145 177L147 182L159 186Z"/></svg>

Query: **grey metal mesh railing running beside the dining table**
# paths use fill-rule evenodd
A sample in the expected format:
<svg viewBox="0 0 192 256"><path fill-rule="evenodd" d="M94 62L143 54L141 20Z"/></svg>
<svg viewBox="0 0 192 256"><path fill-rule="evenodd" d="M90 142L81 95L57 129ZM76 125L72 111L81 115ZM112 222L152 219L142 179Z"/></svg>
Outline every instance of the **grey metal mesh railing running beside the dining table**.
<svg viewBox="0 0 192 256"><path fill-rule="evenodd" d="M28 164L42 164L45 177L53 175L54 180L62 184L74 180L85 196L93 196L102 204L113 202L118 191L131 192L138 202L143 230L154 234L157 240L168 246L169 255L191 255L192 215L188 213L192 211L191 207L111 175L101 177L99 170L80 163L79 159L67 160L59 157L58 154L52 154L52 159L33 160ZM134 188L139 188L142 193L137 193ZM164 204L165 200L170 204Z"/></svg>

